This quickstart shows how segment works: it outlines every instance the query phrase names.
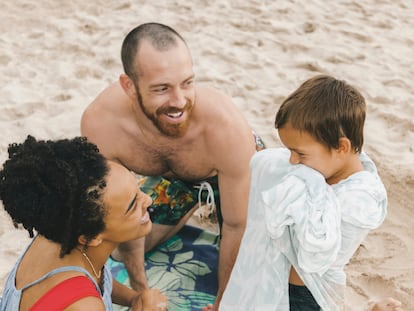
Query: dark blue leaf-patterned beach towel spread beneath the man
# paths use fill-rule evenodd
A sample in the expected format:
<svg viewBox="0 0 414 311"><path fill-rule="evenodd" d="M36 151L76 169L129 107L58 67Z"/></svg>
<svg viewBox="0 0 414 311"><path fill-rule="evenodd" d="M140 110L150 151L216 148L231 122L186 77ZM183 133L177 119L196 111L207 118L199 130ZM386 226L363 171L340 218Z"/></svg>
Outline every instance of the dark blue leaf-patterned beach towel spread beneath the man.
<svg viewBox="0 0 414 311"><path fill-rule="evenodd" d="M113 277L130 287L121 262L109 259ZM201 310L214 303L218 286L218 235L186 225L145 256L148 284L168 297L168 310ZM128 307L113 305L114 310Z"/></svg>

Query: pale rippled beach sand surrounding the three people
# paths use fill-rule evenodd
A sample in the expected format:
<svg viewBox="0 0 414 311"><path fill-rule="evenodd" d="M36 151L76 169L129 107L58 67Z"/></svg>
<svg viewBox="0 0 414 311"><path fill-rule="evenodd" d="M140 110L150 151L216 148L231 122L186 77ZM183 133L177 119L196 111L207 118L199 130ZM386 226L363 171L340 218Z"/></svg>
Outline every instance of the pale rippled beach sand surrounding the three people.
<svg viewBox="0 0 414 311"><path fill-rule="evenodd" d="M83 109L122 72L123 37L143 22L178 30L197 83L230 94L269 147L279 146L278 106L305 79L327 73L357 86L389 213L347 267L347 310L381 296L414 310L413 1L0 2L1 163L28 134L79 135ZM0 291L27 242L0 209Z"/></svg>

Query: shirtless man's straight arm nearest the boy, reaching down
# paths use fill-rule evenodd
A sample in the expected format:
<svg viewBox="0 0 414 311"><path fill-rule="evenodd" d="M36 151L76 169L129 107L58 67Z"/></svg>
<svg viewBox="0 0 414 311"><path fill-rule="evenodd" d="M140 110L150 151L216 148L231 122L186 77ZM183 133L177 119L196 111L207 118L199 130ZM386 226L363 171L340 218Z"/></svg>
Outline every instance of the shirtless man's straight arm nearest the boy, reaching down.
<svg viewBox="0 0 414 311"><path fill-rule="evenodd" d="M223 225L219 249L219 288L214 304L215 310L218 310L230 278L246 227L250 190L249 163L255 152L255 143L251 130L247 126L242 126L241 129L242 131L240 128L239 131L234 130L233 135L229 133L230 137L227 136L225 146L216 149L221 150L221 154L218 155L220 159L218 181Z"/></svg>

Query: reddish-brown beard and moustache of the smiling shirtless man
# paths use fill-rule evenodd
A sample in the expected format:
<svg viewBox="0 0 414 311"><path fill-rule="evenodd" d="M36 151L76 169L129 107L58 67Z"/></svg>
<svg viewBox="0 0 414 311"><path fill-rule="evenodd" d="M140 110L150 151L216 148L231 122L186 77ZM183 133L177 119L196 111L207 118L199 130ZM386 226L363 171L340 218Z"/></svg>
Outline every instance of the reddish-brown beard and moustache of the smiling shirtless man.
<svg viewBox="0 0 414 311"><path fill-rule="evenodd" d="M144 106L144 102L142 100L141 93L139 92L139 89L137 89L138 94L138 104L141 107L142 112L144 112L145 116L151 120L152 124L164 135L170 136L170 137L182 137L187 132L188 127L190 126L190 119L191 119L191 113L193 110L193 104L191 104L190 101L187 101L183 109L177 109L177 108L165 108L160 107L155 111L155 115L151 114ZM187 113L187 118L185 121L181 123L167 123L160 121L159 116L166 113L177 113L177 112L183 112Z"/></svg>

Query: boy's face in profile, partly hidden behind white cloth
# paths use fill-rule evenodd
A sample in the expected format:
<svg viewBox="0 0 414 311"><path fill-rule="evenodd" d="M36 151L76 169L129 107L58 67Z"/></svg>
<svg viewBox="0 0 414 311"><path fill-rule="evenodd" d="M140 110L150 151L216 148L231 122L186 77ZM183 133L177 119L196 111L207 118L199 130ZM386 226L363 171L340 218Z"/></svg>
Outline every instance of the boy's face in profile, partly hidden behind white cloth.
<svg viewBox="0 0 414 311"><path fill-rule="evenodd" d="M291 164L303 164L320 172L329 184L341 175L341 159L335 150L318 142L307 132L294 129L290 123L278 129L280 140L290 150Z"/></svg>

